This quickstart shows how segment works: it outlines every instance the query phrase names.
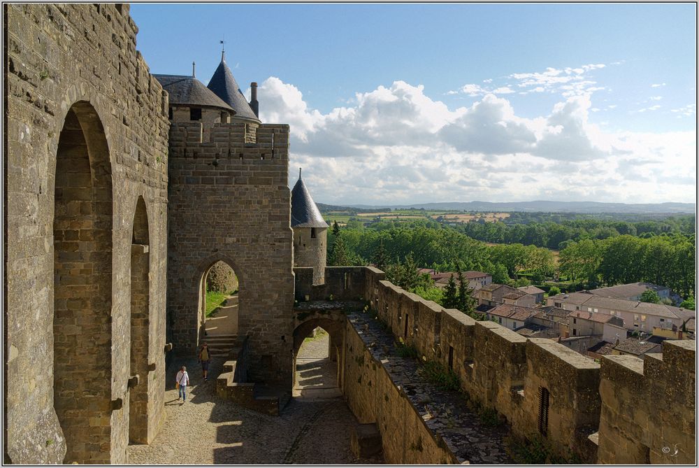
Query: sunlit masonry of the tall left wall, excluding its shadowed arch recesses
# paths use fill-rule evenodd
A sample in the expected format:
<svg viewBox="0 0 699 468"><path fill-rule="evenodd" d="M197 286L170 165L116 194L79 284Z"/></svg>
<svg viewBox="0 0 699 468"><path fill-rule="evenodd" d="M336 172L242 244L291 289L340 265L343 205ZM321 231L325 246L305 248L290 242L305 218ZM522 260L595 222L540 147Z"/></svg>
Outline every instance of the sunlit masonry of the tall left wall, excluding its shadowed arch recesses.
<svg viewBox="0 0 699 468"><path fill-rule="evenodd" d="M71 460L65 461L125 463L131 229L139 196L150 229L150 339L145 352L153 369L140 383L147 382L153 403L148 437L154 437L164 418L167 94L136 50L138 29L127 4L8 3L3 8L6 238L12 239L6 255L6 455L15 463L45 464L64 462L66 454L54 408L53 220L59 138L69 110L78 103L80 109L92 109L84 115L91 122L82 129L87 139L102 135L106 141L106 150L90 159L91 164L104 162L93 178L110 180L111 187L91 203L110 201L103 209L111 211L111 239L103 241L111 251L99 255L107 255L112 266L103 272L111 277L111 304L94 304L106 309L95 317L94 332L101 338L85 362L74 364L85 369L86 379L90 372L103 374L104 383L100 396L76 395L74 414L92 416L80 416L87 424L74 434ZM82 182L89 186L89 179ZM82 248L90 242L79 241ZM81 326L75 323L76 334L59 338L70 343L82 336ZM119 399L122 408L112 409L111 402ZM66 420L71 417L66 413Z"/></svg>

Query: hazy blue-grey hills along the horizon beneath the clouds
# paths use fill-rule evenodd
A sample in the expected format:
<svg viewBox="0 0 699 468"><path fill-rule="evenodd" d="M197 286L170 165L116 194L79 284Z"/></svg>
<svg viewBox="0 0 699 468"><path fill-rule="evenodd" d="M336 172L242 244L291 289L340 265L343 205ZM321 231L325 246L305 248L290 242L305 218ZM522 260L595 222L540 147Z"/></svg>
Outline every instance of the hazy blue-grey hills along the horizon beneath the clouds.
<svg viewBox="0 0 699 468"><path fill-rule="evenodd" d="M426 210L459 210L459 211L532 211L545 213L696 213L693 203L600 203L598 201L447 201L443 203L405 204L392 206L349 205L336 206L318 204L321 211L341 211L347 208L359 208L361 211L377 209L424 208Z"/></svg>

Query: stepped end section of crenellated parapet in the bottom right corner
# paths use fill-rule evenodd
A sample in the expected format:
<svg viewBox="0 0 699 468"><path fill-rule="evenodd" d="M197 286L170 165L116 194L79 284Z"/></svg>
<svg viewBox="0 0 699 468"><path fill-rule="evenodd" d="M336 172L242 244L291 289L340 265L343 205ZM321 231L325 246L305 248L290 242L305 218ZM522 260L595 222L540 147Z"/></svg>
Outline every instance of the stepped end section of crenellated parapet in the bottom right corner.
<svg viewBox="0 0 699 468"><path fill-rule="evenodd" d="M696 460L696 341L668 340L662 354L601 362L598 460L637 465Z"/></svg>

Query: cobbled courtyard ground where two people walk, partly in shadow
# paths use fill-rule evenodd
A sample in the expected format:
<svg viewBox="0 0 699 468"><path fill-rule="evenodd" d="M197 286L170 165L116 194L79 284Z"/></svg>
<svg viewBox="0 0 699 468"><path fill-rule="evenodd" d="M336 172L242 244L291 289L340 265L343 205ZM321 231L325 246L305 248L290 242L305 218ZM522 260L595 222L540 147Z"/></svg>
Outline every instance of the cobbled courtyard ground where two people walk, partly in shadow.
<svg viewBox="0 0 699 468"><path fill-rule="evenodd" d="M325 343L323 343L323 341ZM310 346L305 346L310 344ZM327 354L327 336L305 343L303 359L322 350ZM310 354L306 353L306 348ZM303 354L302 354L303 353ZM310 362L310 361L309 361ZM168 369L167 420L150 446L129 446L129 463L138 465L302 465L367 464L381 460L356 460L349 451L349 437L356 419L341 398L292 398L280 416L266 416L240 408L215 395L215 379L201 380L196 358L184 364L192 385L187 402L178 402L175 371ZM218 375L223 359L215 358L210 374ZM334 364L332 364L334 372ZM300 385L326 383L325 365L297 369ZM334 375L333 375L334 379ZM321 385L322 386L322 385Z"/></svg>

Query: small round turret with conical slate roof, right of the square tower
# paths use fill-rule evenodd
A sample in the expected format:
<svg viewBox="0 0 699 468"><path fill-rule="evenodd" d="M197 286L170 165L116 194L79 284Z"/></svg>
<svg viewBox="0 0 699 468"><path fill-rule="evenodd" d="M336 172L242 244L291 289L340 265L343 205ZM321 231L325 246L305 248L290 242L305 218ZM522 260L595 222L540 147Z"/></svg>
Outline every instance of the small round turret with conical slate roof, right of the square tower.
<svg viewBox="0 0 699 468"><path fill-rule="evenodd" d="M301 179L301 169L291 190L291 228L294 230L294 267L312 267L313 284L324 283L328 225Z"/></svg>

